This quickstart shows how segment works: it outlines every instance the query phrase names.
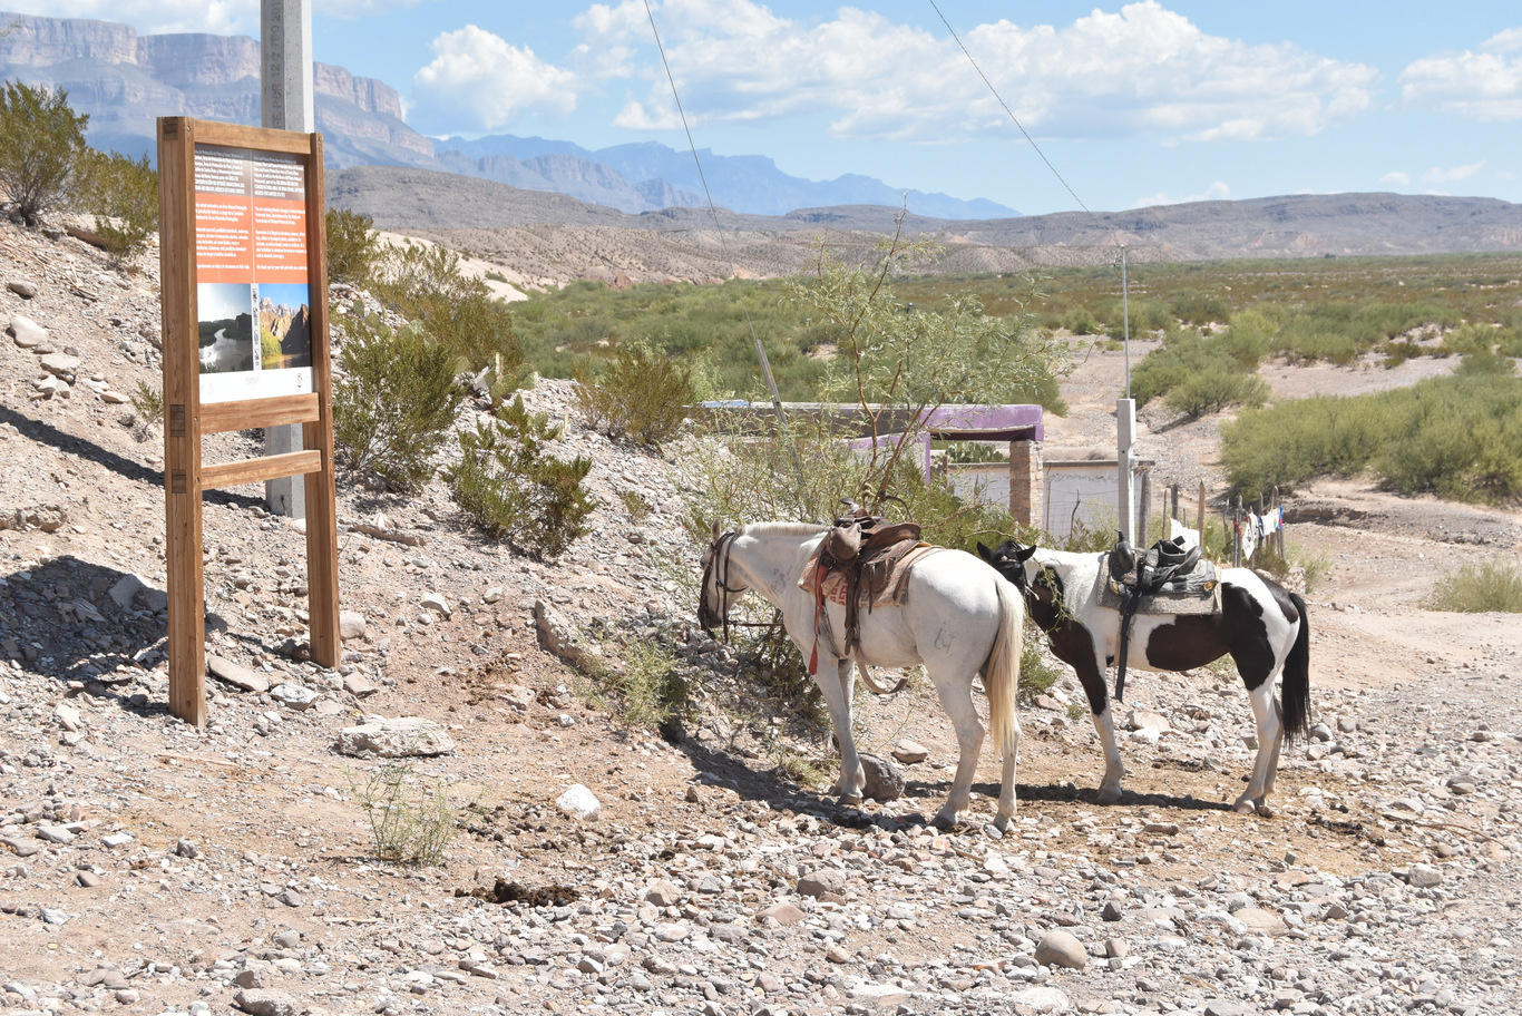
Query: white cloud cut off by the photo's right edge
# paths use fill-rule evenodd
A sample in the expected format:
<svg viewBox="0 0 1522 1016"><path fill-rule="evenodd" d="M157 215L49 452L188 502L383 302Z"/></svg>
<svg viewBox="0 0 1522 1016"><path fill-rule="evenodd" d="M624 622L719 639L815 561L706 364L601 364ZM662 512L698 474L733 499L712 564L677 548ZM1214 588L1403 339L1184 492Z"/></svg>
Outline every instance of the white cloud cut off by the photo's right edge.
<svg viewBox="0 0 1522 1016"><path fill-rule="evenodd" d="M1405 105L1469 120L1522 120L1522 29L1485 40L1478 52L1423 56L1400 71Z"/></svg>

